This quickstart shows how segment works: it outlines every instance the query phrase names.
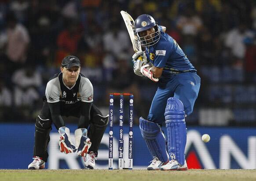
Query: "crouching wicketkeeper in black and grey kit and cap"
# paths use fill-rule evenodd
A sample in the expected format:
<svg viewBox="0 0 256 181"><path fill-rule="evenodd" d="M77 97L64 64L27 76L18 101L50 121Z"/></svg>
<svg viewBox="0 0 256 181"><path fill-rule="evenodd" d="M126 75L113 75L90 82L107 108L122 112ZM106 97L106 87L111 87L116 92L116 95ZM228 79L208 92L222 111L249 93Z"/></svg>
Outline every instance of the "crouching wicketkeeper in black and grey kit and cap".
<svg viewBox="0 0 256 181"><path fill-rule="evenodd" d="M67 56L62 60L60 73L49 80L43 98L43 107L37 116L33 162L29 170L44 169L48 159L48 143L52 123L59 131L60 151L83 157L87 169L95 169L99 144L107 126L108 116L103 116L93 104L93 86L80 74L80 60ZM75 143L70 139L69 128L63 116L77 117Z"/></svg>

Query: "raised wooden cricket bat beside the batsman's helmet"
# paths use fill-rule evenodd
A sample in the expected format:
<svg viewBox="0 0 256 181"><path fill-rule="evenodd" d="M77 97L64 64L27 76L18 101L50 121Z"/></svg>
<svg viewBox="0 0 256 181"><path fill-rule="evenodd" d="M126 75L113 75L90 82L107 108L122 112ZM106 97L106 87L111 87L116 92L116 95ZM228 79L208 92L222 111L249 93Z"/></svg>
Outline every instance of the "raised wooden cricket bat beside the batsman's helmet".
<svg viewBox="0 0 256 181"><path fill-rule="evenodd" d="M128 14L127 12L121 11L120 13L121 13L121 15L124 19L124 23L126 25L126 28L127 28L128 33L129 33L130 39L132 41L133 50L135 52L137 52L137 51L141 50L141 46L140 46L140 43L138 41L138 37L135 34L134 20L132 19L132 16L130 14Z"/></svg>

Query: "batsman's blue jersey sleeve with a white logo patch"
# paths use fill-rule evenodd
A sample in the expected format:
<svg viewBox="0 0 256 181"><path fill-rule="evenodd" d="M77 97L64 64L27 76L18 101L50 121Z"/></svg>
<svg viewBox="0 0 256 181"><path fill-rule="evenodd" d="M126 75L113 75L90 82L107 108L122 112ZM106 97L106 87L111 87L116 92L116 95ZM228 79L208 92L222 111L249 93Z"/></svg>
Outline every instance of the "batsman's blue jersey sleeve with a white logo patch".
<svg viewBox="0 0 256 181"><path fill-rule="evenodd" d="M154 57L154 66L155 67L165 67L168 57L173 51L173 42L172 41L159 41L155 47L155 57Z"/></svg>

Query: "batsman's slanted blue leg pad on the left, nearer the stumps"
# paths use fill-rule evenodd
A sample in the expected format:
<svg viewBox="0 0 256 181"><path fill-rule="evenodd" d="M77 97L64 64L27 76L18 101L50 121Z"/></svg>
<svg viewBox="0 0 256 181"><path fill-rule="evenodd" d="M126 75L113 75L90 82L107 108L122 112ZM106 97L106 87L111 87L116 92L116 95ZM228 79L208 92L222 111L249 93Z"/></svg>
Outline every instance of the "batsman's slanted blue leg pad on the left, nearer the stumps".
<svg viewBox="0 0 256 181"><path fill-rule="evenodd" d="M158 160L165 163L168 161L168 153L165 147L165 138L158 124L147 121L143 117L139 118L139 128L141 135L146 142L146 146L150 150L152 157L157 157Z"/></svg>

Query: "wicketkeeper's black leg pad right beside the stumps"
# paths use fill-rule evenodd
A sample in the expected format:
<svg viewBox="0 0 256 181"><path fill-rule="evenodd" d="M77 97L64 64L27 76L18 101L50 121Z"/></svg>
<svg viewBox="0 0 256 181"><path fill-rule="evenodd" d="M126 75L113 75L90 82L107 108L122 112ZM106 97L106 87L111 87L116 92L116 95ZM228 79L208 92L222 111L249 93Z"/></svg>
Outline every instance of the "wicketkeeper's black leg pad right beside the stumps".
<svg viewBox="0 0 256 181"><path fill-rule="evenodd" d="M88 129L88 137L91 139L91 147L89 152L93 151L94 153L98 153L99 145L102 140L102 136L106 130L108 124L108 117L102 115L95 115L92 119L90 128Z"/></svg>

